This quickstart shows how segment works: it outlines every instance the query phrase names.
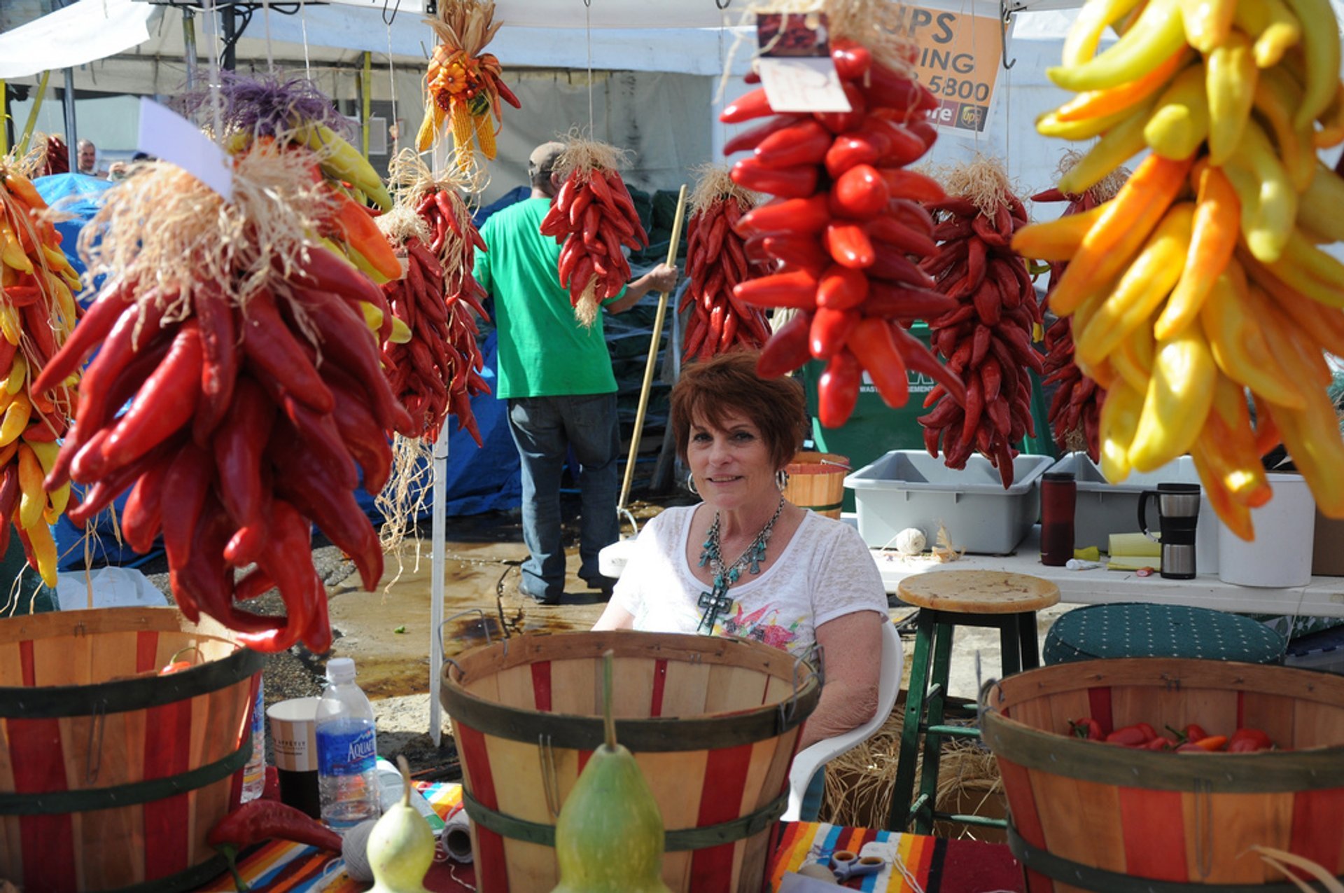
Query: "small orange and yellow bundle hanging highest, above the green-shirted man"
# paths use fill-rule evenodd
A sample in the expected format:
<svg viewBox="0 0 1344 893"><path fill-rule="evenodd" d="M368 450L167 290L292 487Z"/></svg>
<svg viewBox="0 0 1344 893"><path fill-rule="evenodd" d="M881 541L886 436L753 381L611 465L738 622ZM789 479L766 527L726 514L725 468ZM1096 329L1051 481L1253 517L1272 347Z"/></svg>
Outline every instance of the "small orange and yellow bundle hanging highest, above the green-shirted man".
<svg viewBox="0 0 1344 893"><path fill-rule="evenodd" d="M439 43L425 73L425 118L415 134L415 149L433 147L446 118L453 133L453 161L466 172L474 155L473 139L481 155L495 157L495 122L503 120L500 98L515 109L523 104L504 83L500 61L481 52L500 28L493 3L444 0L438 17L425 22Z"/></svg>

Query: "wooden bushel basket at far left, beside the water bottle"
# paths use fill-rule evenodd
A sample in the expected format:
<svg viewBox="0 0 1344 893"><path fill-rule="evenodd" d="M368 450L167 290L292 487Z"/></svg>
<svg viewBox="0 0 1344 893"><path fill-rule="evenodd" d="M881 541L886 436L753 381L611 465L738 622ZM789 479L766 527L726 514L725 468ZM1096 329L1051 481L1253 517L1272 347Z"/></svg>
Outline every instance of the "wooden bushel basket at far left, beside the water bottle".
<svg viewBox="0 0 1344 893"><path fill-rule="evenodd" d="M187 890L238 804L265 655L173 608L0 621L0 878L26 890ZM195 646L200 664L157 675ZM195 658L195 655L190 655Z"/></svg>

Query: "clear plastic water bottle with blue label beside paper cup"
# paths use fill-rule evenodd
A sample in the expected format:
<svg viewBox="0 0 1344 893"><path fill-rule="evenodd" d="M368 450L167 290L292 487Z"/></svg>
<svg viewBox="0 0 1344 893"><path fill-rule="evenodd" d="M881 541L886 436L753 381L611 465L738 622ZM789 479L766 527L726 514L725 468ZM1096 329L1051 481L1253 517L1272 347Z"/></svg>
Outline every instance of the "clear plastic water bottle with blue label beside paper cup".
<svg viewBox="0 0 1344 893"><path fill-rule="evenodd" d="M355 685L355 662L327 662L327 690L317 703L317 791L323 820L345 831L382 815L374 707Z"/></svg>

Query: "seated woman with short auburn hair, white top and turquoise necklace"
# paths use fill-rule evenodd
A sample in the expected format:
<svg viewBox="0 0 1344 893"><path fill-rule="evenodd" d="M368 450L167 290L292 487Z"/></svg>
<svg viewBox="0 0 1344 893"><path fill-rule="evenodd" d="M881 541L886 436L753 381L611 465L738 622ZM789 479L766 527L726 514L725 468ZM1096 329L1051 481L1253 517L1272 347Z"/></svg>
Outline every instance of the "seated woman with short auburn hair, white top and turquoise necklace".
<svg viewBox="0 0 1344 893"><path fill-rule="evenodd" d="M672 434L704 502L645 525L593 628L730 635L794 656L820 646L825 685L802 749L872 718L887 593L853 527L784 498L805 401L797 381L757 375L758 356L734 351L681 371ZM812 796L820 803L820 788Z"/></svg>

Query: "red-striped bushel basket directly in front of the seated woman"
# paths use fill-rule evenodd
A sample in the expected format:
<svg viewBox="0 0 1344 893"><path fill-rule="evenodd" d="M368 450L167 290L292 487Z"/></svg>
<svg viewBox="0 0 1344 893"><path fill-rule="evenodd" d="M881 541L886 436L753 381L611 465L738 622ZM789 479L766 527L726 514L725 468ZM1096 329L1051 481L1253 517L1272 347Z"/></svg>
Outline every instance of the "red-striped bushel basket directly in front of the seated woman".
<svg viewBox="0 0 1344 893"><path fill-rule="evenodd" d="M663 881L758 893L820 682L761 643L629 631L515 636L444 667L478 889L555 886L555 818L602 744L607 650L617 740L663 812Z"/></svg>

